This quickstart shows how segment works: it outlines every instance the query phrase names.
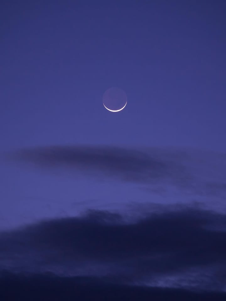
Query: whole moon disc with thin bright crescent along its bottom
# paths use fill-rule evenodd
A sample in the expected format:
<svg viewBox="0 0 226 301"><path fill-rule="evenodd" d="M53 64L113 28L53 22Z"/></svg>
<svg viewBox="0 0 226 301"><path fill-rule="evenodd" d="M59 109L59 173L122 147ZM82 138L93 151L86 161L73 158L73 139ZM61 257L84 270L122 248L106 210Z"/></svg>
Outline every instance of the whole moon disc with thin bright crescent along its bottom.
<svg viewBox="0 0 226 301"><path fill-rule="evenodd" d="M120 112L127 104L126 93L117 87L112 87L104 92L103 105L110 112Z"/></svg>

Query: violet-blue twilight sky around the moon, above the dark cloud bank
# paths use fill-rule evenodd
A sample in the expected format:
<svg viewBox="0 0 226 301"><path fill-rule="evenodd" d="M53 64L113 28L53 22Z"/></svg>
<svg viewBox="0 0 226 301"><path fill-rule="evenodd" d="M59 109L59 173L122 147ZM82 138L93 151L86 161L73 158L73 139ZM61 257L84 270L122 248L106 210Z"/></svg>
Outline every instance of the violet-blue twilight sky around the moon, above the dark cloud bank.
<svg viewBox="0 0 226 301"><path fill-rule="evenodd" d="M87 209L226 214L225 11L209 0L3 1L0 230ZM126 92L119 113L102 104L110 87ZM150 283L176 287L180 272ZM189 283L196 270L186 273Z"/></svg>

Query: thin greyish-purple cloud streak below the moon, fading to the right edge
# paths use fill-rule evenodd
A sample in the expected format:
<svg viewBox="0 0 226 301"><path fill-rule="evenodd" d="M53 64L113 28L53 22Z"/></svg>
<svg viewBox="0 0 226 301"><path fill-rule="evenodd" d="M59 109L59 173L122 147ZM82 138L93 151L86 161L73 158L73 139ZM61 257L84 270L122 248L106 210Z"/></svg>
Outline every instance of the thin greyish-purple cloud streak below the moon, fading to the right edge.
<svg viewBox="0 0 226 301"><path fill-rule="evenodd" d="M226 157L174 149L138 150L113 146L52 146L17 151L10 156L46 169L112 177L144 184L163 193L169 187L195 195L226 196Z"/></svg>

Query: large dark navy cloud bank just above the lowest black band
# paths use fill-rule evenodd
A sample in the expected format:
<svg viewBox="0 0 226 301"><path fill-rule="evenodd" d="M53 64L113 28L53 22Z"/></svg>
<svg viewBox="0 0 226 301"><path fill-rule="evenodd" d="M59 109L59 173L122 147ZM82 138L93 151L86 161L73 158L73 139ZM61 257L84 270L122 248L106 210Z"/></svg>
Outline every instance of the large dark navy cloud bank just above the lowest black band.
<svg viewBox="0 0 226 301"><path fill-rule="evenodd" d="M3 232L0 267L223 291L225 242L226 216L210 211L154 211L134 220L90 211Z"/></svg>

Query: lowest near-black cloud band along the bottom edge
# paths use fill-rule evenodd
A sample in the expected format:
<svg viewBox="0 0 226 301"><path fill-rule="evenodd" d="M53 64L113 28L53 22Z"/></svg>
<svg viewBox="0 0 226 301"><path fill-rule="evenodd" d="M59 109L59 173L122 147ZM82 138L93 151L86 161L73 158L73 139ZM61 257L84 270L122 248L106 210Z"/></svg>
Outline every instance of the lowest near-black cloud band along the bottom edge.
<svg viewBox="0 0 226 301"><path fill-rule="evenodd" d="M0 280L1 300L224 301L226 297L226 293L220 292L122 285L95 277L68 278L48 274L24 276L5 272Z"/></svg>

